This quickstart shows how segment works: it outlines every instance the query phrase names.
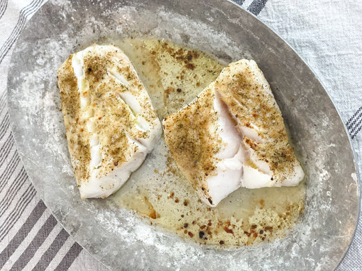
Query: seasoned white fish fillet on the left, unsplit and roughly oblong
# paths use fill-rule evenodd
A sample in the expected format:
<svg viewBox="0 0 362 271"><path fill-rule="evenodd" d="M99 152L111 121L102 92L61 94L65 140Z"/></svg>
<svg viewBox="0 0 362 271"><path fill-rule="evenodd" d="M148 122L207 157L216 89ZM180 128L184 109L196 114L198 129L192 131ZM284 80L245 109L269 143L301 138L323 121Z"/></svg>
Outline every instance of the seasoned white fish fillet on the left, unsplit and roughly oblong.
<svg viewBox="0 0 362 271"><path fill-rule="evenodd" d="M108 197L162 133L145 86L113 45L92 45L58 69L68 149L81 198Z"/></svg>

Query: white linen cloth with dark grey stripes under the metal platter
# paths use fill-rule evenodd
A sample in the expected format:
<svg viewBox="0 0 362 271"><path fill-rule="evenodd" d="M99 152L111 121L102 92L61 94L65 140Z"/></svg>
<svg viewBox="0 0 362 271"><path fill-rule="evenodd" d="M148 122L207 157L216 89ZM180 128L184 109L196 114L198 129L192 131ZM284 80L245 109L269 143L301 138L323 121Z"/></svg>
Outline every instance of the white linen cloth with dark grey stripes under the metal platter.
<svg viewBox="0 0 362 271"><path fill-rule="evenodd" d="M362 1L234 0L310 65L340 111L362 176ZM56 222L31 185L11 135L6 81L13 45L44 0L0 0L0 268L107 270ZM302 259L301 259L302 260ZM337 270L362 270L362 220Z"/></svg>

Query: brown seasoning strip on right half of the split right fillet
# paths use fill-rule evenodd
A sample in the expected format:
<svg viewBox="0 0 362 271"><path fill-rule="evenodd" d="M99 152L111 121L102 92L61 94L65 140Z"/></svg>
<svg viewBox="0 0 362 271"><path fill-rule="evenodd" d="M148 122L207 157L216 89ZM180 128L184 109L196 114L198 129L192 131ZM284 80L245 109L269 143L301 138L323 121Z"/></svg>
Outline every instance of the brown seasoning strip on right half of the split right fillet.
<svg viewBox="0 0 362 271"><path fill-rule="evenodd" d="M215 89L236 117L239 128L255 129L263 141L244 136L244 145L269 165L276 181L282 183L290 177L299 162L289 145L281 110L255 61L239 60L228 65L217 78Z"/></svg>

